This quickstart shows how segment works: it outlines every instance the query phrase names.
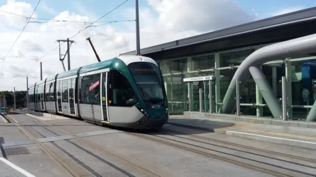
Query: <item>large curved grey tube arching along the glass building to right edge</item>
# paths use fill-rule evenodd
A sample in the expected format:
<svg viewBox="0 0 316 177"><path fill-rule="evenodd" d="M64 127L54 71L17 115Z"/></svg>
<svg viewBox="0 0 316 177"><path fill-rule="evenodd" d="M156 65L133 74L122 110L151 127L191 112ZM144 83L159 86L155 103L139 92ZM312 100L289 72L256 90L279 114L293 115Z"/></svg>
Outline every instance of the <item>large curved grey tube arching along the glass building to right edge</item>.
<svg viewBox="0 0 316 177"><path fill-rule="evenodd" d="M234 97L236 96L236 79L242 81L241 83L244 85L245 81L249 78L249 68L251 66L256 67L269 61L279 60L286 57L293 57L298 54L309 54L315 51L316 34L279 42L256 50L255 52L250 54L237 69L228 87L219 113L232 113L233 109L236 107L234 101ZM240 86L242 87L243 85ZM311 113L316 112L316 110L314 109L316 109L316 107L313 106L313 108L311 109Z"/></svg>

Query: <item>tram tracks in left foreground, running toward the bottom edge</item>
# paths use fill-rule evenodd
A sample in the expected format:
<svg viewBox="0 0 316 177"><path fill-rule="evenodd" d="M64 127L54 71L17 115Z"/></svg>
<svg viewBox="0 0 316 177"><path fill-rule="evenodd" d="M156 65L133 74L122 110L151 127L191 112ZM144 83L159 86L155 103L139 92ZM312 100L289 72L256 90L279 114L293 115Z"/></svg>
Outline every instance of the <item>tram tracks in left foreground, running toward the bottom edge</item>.
<svg viewBox="0 0 316 177"><path fill-rule="evenodd" d="M147 170L147 169L145 169L145 168L143 168L143 167L141 167L141 166L138 166L137 164L134 164L134 163L128 161L127 159L124 159L124 158L118 156L117 154L114 154L114 153L110 152L109 150L104 149L103 147L99 146L98 144L95 144L95 143L90 142L90 141L88 141L88 140L82 139L82 138L80 138L80 137L78 137L78 136L76 136L76 135L74 135L74 134L72 134L72 133L70 133L70 132L68 132L68 131L66 131L66 130L64 130L64 129L61 129L61 128L59 128L59 127L56 127L56 126L54 126L54 125L52 125L52 124L49 124L49 123L47 123L47 122L45 122L45 121L42 121L42 120L40 120L40 119L36 119L36 118L34 118L34 117L32 117L32 116L29 116L29 115L26 115L26 114L23 114L23 113L21 113L21 114L24 115L24 116L27 116L27 117L31 118L31 119L33 120L33 122L36 123L36 124L38 124L38 125L40 125L39 122L41 122L41 123L47 125L48 127L52 127L52 128L58 129L58 130L60 130L60 131L62 131L62 132L64 132L64 133L66 133L66 134L68 134L68 135L71 135L71 136L73 136L73 137L76 137L77 140L80 140L80 141L82 141L82 142L84 142L84 143L87 143L87 144L89 144L89 145L91 145L91 146L93 146L94 148L97 148L97 149L99 149L99 150L102 150L103 152L106 152L107 154L112 155L112 156L118 158L119 160L121 160L121 161L124 162L125 164L128 164L128 165L130 165L130 166L132 166L132 167L134 167L134 168L137 168L138 170L142 170L143 172L145 172L145 173L147 174L148 177L160 177L160 176L158 176L157 174L155 174L154 172L151 172L151 171L149 171L149 170ZM45 146L44 146L41 142L39 142L29 131L27 131L27 130L24 128L24 126L27 126L27 125L20 125L20 124L19 124L16 120L14 120L12 117L10 117L10 116L8 116L8 115L5 115L5 116L6 116L8 119L10 119L11 122L14 122L14 124L15 124L16 126L18 126L18 127L21 129L21 131L22 131L23 133L25 133L31 140L33 140L34 142L36 142L36 144L39 145L40 148L41 148L47 155L49 155L53 160L55 160L59 165L61 165L61 166L64 168L64 170L66 170L71 176L73 176L73 177L80 177L80 176L82 176L82 175L77 174L77 173L75 172L76 170L73 170L69 165L67 165L66 163L64 163L64 162L63 162L60 158L58 158L53 152L51 152L51 150L50 150L49 148L45 147ZM40 126L41 126L41 125L40 125ZM36 132L37 134L39 134L42 138L47 138L45 135L43 135L42 133L40 133L38 130L36 130L35 128L31 127L31 125L28 126L28 127L30 127L34 132ZM49 128L47 128L47 127L45 127L45 126L41 126L41 127L44 128L45 130L49 131L50 133L56 135L56 136L61 136L60 134L58 134L58 133L56 133L56 132L50 130ZM130 174L129 172L123 170L122 168L118 167L117 165L115 165L115 164L113 164L113 163L107 161L106 159L100 157L99 155L97 155L97 154L95 154L95 153L93 153L93 152L87 150L87 149L84 148L82 145L79 145L78 143L72 142L72 141L70 141L70 140L64 140L64 141L69 142L70 144L76 146L77 148L79 148L80 150L84 151L85 153L87 153L87 154L91 155L92 157L98 159L99 161L101 161L101 162L103 162L103 163L109 165L110 167L112 167L112 168L118 170L119 172L121 172L122 174L124 174L124 175L127 176L127 177L136 177L136 176ZM59 146L59 145L56 144L55 142L50 142L50 143L52 143L57 149L59 149L60 151L62 151L64 154L66 154L68 157L70 157L72 160L74 160L74 161L75 161L76 163L78 163L82 168L84 168L85 170L87 170L88 172L90 172L90 173L91 173L92 175L94 175L95 177L103 177L101 174L99 174L99 173L97 173L96 171L94 171L93 169L91 169L88 165L86 165L84 162L80 161L78 158L76 158L75 156L73 156L71 153L69 153L67 150L65 150L64 148L62 148L61 146Z"/></svg>

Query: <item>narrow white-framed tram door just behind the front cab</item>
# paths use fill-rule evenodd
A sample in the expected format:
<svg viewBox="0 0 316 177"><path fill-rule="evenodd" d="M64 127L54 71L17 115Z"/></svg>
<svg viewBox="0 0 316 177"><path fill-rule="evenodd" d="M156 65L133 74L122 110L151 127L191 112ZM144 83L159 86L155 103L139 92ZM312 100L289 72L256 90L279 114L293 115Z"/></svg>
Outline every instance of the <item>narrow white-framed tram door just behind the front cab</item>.
<svg viewBox="0 0 316 177"><path fill-rule="evenodd" d="M110 122L109 112L108 112L108 90L111 89L112 85L109 82L111 79L111 72L103 72L101 73L101 107L102 107L102 120L106 122Z"/></svg>

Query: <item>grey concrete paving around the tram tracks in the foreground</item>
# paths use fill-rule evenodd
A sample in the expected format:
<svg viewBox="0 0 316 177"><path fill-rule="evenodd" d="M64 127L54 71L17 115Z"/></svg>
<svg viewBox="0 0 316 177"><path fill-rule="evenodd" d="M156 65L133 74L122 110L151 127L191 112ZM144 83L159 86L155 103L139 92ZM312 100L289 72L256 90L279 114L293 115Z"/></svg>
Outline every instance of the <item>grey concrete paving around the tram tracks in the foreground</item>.
<svg viewBox="0 0 316 177"><path fill-rule="evenodd" d="M271 177L271 175L266 173L210 158L202 154L135 137L121 130L92 125L75 119L52 120L38 117L55 126L51 127L25 115L11 115L11 117L37 139L43 147L50 149L50 151L62 161L62 163L54 161L40 149L38 144L21 132L13 123L4 123L0 120L0 146L4 158L36 177L69 176L60 164L70 169L75 169L74 171L80 176L151 177L156 174L156 176L160 177ZM179 123L181 121L180 117L171 117L170 122L175 123L176 121ZM201 120L195 121L196 126L198 121L202 122ZM189 121L182 120L182 122ZM210 122L207 125L212 126L211 128L213 129L234 130L233 127L235 127L235 129L241 129L247 126L255 126L256 124L217 121ZM255 129L256 127L250 128ZM253 141L224 134L214 134L205 130L189 129L174 125L165 125L164 129L179 132L179 134L176 135L179 137L163 135L159 132L155 133L156 136L184 141L181 137L195 135L316 159L316 155L290 149L284 150L284 148L278 147L274 143ZM68 133L63 130L66 130ZM184 133L185 135L180 133ZM83 140L76 137L80 137ZM85 141L91 142L92 144ZM291 169L303 170L306 173L315 172L316 174L316 164L304 162L304 160L296 160L297 163L303 164L303 166L297 166L287 162L293 161L290 157L279 157L283 158L284 161L276 161L265 157L268 155L271 156L271 154L267 154L266 152L262 152L261 155L251 155L246 152L238 151L238 149L224 149L225 147L220 147L219 144L206 144L206 142L210 143L212 141L193 142L192 140L187 140L187 142L205 148L213 147L213 149L217 150L223 149L223 151L227 153L243 155L244 158L247 157L256 159L257 161L266 161L276 166L285 166ZM10 149L8 148L12 147L19 147L19 149L15 149L15 153L9 154ZM14 151L14 149L11 149L11 151ZM306 164L306 166L304 166L304 164ZM312 167L308 166L311 164ZM11 173L11 171L11 176L20 177L18 175L21 175L21 173L14 171L12 167L8 165L2 166L2 164L0 164L0 172L2 171L5 172L6 175ZM282 171L282 169L280 171ZM14 175L14 173L18 175ZM0 173L0 177L5 176L1 176Z"/></svg>

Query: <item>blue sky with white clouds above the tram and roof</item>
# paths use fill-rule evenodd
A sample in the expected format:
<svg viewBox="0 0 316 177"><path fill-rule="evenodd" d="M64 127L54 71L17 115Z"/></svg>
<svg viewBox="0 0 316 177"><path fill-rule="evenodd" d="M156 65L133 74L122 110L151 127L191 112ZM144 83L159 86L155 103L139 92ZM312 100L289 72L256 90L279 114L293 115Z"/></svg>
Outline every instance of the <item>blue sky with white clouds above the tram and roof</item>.
<svg viewBox="0 0 316 177"><path fill-rule="evenodd" d="M29 84L39 81L40 62L43 79L63 72L59 39L76 41L70 50L72 69L97 62L87 37L101 60L135 50L135 0L124 1L40 0L35 9L39 0L0 0L0 91L26 90L26 76ZM315 5L315 0L139 0L140 45L149 47ZM32 18L26 18L34 9ZM61 53L66 50L62 44ZM67 59L64 63L67 70Z"/></svg>

